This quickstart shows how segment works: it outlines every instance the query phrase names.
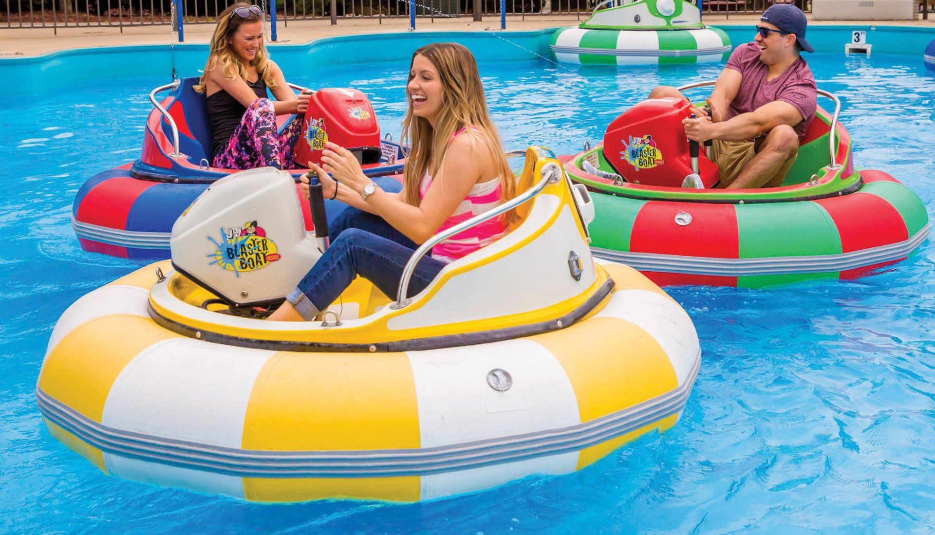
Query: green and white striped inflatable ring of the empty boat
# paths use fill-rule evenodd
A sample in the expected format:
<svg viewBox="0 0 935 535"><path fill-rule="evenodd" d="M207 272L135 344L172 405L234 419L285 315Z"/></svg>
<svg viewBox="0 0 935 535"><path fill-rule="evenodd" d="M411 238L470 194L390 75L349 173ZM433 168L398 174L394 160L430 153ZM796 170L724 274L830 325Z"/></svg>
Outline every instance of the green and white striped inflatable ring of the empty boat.
<svg viewBox="0 0 935 535"><path fill-rule="evenodd" d="M668 65L725 61L730 38L702 30L584 30L561 28L549 47L555 59L583 65Z"/></svg>

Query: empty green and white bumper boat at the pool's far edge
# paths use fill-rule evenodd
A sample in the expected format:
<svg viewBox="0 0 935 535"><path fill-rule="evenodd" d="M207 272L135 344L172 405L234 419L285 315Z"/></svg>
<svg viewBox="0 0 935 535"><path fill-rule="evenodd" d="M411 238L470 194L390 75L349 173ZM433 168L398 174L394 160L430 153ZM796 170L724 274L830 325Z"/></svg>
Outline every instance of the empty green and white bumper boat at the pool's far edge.
<svg viewBox="0 0 935 535"><path fill-rule="evenodd" d="M691 2L604 0L579 26L559 28L550 49L570 64L668 65L726 61L731 47Z"/></svg>

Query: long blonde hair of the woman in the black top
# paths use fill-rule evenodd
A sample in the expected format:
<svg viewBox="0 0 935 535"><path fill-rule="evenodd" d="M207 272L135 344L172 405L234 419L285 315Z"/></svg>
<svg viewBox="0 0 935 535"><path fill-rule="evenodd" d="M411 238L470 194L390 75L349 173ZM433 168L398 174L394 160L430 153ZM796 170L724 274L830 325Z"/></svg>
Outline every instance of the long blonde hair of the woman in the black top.
<svg viewBox="0 0 935 535"><path fill-rule="evenodd" d="M237 33L237 28L239 28L241 24L262 21L262 19L252 11L250 12L250 16L246 19L235 16L232 13L237 7L246 7L249 9L250 4L244 2L232 4L224 9L218 17L218 25L214 28L214 36L211 36L211 52L208 56L208 63L205 64L205 72L202 73L201 79L198 80L198 85L194 86L194 91L198 93L205 93L208 88L205 83L208 79L205 77L208 76L209 70L217 68L218 66L221 67L221 72L226 78L234 78L236 74L243 80L247 80L247 66L243 65L243 62L240 61L240 57L237 56L237 52L231 48L230 40L234 37L234 34ZM250 61L250 64L256 67L257 74L263 78L267 87L276 87L276 81L273 80L272 69L268 68L269 54L266 52L266 45L263 43L263 39L260 39L260 45L256 50L256 55L253 56L253 59ZM235 70L237 71L236 73Z"/></svg>

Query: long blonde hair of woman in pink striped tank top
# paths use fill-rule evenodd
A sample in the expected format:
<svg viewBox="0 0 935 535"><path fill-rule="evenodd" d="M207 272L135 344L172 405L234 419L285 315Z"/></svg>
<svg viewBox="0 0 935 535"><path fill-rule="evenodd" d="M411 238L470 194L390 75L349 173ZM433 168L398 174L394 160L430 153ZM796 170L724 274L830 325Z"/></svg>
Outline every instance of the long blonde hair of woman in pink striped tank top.
<svg viewBox="0 0 935 535"><path fill-rule="evenodd" d="M468 127L467 134L472 141L480 141L494 157L494 163L502 180L504 200L516 196L516 181L507 163L507 156L500 146L500 137L496 134L494 122L487 111L487 100L483 95L481 75L477 70L474 55L457 43L432 43L412 53L423 55L439 70L441 81L441 111L433 128L424 117L412 112L412 99L407 98L406 117L403 119L403 143L410 144L406 167L403 171L403 200L419 206L419 186L426 172L438 176L445 152L454 136L461 128ZM410 62L409 81L412 80ZM476 126L477 129L470 128ZM516 223L514 210L504 214L504 223Z"/></svg>

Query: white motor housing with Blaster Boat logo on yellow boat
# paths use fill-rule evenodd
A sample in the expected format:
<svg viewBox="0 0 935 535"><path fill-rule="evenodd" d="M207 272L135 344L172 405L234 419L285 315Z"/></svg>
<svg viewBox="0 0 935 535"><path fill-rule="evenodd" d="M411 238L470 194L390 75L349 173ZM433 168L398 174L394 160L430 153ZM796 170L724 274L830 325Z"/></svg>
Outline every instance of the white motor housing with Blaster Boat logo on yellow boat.
<svg viewBox="0 0 935 535"><path fill-rule="evenodd" d="M295 180L274 167L215 181L172 225L172 266L237 307L281 301L322 255Z"/></svg>

